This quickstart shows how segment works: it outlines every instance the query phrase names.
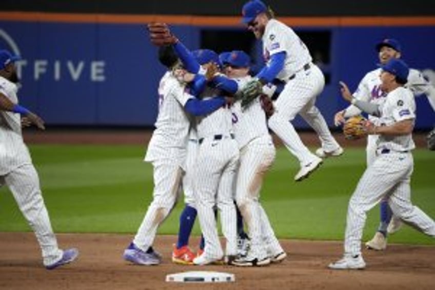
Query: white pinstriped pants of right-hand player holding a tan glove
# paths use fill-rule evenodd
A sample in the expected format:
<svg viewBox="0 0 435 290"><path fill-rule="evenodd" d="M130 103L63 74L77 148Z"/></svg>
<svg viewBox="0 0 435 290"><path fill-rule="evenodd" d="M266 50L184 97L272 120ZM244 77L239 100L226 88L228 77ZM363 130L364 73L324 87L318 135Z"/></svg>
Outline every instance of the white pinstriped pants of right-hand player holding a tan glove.
<svg viewBox="0 0 435 290"><path fill-rule="evenodd" d="M412 170L412 154L394 151L379 154L366 169L349 201L344 243L346 254L361 254L366 212L384 197L388 197L394 215L423 233L435 237L435 222L411 203Z"/></svg>

